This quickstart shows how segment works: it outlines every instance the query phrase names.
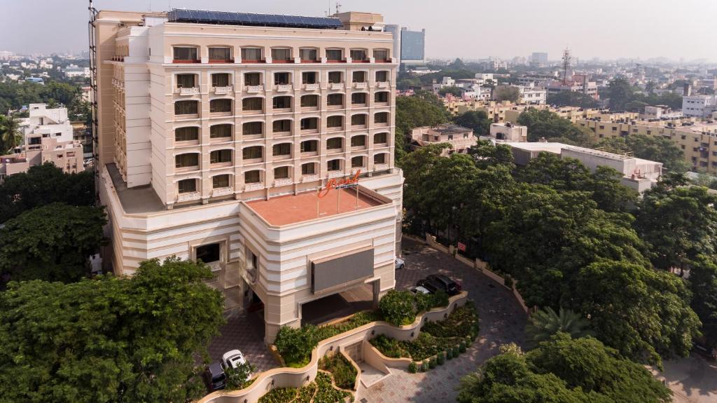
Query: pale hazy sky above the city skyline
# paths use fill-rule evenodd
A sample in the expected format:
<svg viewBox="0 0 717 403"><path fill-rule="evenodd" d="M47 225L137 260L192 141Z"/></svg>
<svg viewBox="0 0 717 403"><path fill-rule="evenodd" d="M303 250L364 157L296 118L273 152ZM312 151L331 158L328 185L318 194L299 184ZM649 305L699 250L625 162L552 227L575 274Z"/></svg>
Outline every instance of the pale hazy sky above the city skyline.
<svg viewBox="0 0 717 403"><path fill-rule="evenodd" d="M177 8L323 16L329 0L97 0L98 9ZM331 7L335 0L331 0ZM426 29L427 57L670 57L717 61L717 0L340 0L341 11ZM87 48L87 1L0 0L0 50Z"/></svg>

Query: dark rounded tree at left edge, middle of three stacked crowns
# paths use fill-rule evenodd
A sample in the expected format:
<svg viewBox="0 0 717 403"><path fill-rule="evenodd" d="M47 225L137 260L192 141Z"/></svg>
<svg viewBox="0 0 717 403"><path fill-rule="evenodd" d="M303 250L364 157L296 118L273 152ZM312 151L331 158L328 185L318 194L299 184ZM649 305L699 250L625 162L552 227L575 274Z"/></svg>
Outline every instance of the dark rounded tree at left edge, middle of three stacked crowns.
<svg viewBox="0 0 717 403"><path fill-rule="evenodd" d="M0 228L0 273L16 281L80 280L106 241L105 224L100 207L54 203L24 212Z"/></svg>

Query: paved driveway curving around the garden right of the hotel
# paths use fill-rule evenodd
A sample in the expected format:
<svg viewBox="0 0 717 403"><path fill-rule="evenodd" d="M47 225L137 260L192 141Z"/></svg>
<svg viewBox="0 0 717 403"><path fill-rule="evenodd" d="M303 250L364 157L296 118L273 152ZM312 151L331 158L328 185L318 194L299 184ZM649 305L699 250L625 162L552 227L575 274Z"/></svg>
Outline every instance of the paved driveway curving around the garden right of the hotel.
<svg viewBox="0 0 717 403"><path fill-rule="evenodd" d="M460 378L499 353L505 343L523 343L526 313L511 291L461 262L419 242L404 238L406 268L396 272L396 288L409 288L417 280L440 272L463 285L475 301L480 316L480 337L457 359L446 361L431 371L409 374L391 369L391 376L366 390L358 401L363 403L455 402Z"/></svg>

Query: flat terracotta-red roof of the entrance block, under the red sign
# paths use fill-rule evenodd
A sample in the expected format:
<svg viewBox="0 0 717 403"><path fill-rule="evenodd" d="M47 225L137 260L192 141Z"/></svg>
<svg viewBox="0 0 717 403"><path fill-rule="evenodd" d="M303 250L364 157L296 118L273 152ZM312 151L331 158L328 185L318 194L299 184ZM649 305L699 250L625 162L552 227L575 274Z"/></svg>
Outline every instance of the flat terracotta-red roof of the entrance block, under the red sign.
<svg viewBox="0 0 717 403"><path fill-rule="evenodd" d="M307 191L300 194L278 196L269 200L247 202L247 205L266 222L276 226L355 212L381 204L384 203L362 193L360 189L358 202L356 201L356 189L333 189L323 197L319 197L316 191Z"/></svg>

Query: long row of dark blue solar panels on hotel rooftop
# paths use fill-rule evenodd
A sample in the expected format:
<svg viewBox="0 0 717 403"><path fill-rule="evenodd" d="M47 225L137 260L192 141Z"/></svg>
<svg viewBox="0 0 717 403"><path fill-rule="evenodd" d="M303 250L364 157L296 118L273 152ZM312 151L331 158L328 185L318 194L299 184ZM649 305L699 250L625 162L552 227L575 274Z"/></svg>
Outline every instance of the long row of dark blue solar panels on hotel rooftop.
<svg viewBox="0 0 717 403"><path fill-rule="evenodd" d="M168 22L195 24L231 24L253 27L286 27L336 29L343 25L338 18L315 16L290 16L281 14L250 14L229 11L174 9L167 14Z"/></svg>

